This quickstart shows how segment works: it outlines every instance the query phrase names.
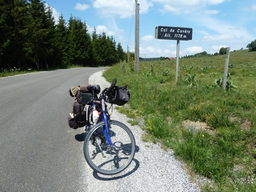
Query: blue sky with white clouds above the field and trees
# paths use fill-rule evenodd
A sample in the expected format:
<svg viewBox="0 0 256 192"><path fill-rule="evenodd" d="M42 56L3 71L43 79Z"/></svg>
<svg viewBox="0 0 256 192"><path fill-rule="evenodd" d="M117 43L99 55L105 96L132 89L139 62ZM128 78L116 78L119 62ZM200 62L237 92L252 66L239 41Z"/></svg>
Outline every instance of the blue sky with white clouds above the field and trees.
<svg viewBox="0 0 256 192"><path fill-rule="evenodd" d="M106 33L123 50L135 50L135 0L45 0L55 21L60 14L85 22L88 32ZM180 40L179 56L206 51L246 49L256 39L255 0L137 0L139 54L142 58L176 57L177 40L156 39L158 26L192 28L191 40Z"/></svg>

